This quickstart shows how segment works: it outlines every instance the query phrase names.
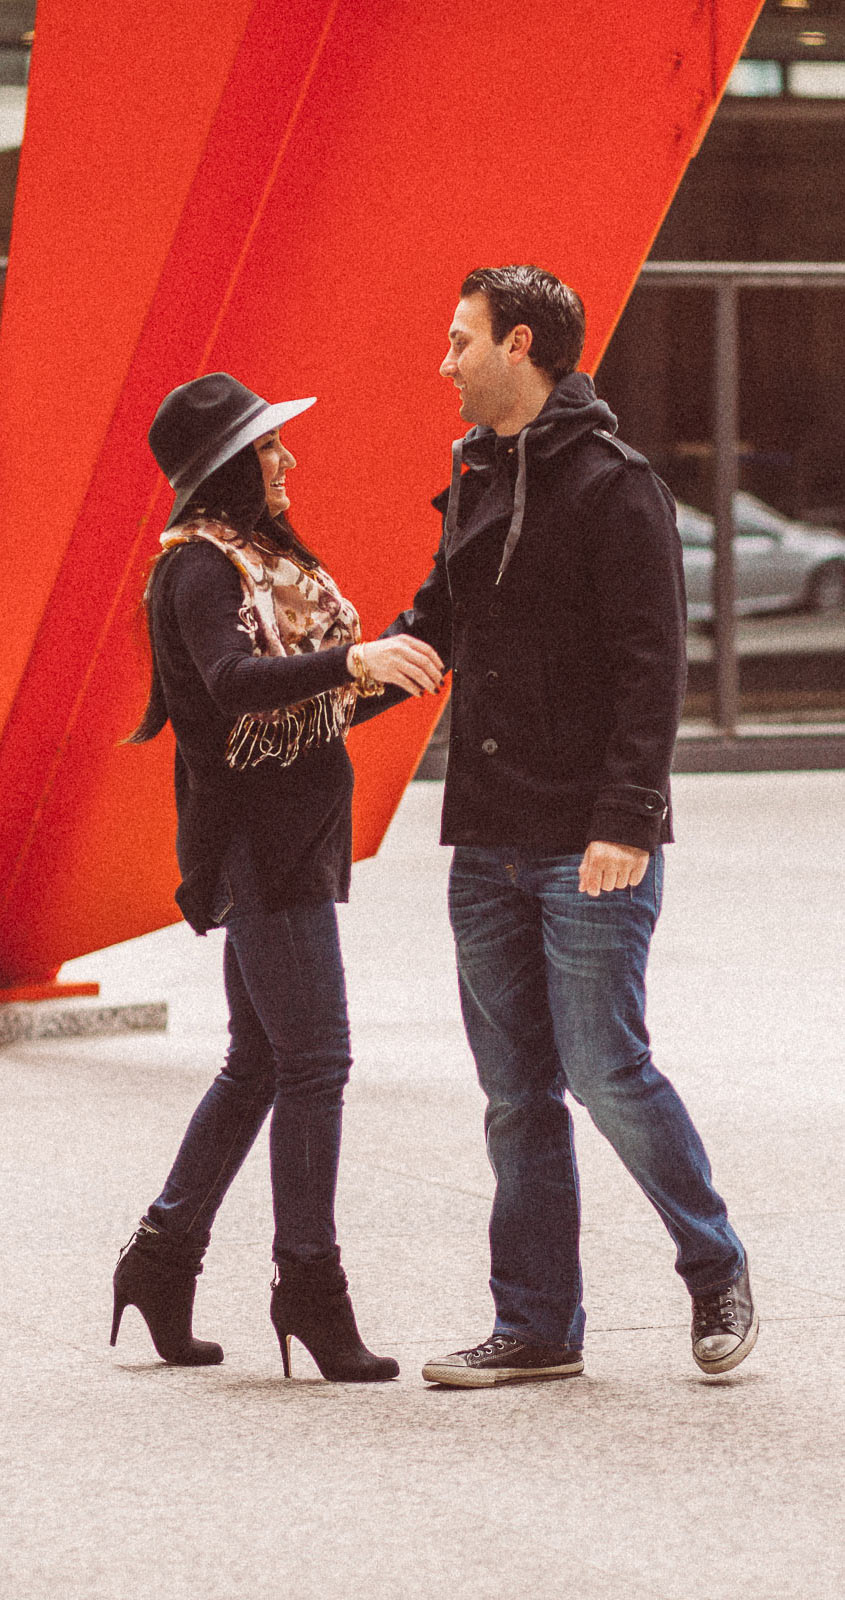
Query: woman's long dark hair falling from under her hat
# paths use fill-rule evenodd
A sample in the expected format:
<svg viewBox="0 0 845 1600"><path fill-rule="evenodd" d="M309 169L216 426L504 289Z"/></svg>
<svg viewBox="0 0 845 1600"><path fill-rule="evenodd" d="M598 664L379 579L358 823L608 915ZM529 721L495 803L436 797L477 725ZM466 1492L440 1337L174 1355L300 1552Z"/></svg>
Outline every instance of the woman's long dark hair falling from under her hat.
<svg viewBox="0 0 845 1600"><path fill-rule="evenodd" d="M187 501L187 506L179 517L179 526L186 526L192 522L222 522L227 528L234 528L245 542L258 534L259 542L270 544L280 552L288 550L302 566L314 568L320 565L317 557L296 536L283 514L280 517L270 517L264 493L264 475L261 472L261 462L254 445L246 445L243 450L238 450L237 456L232 456L230 461L222 464L222 467L218 467L216 472L210 472L210 475L203 478L197 491ZM162 733L162 728L168 720L165 686L155 661L150 603L162 566L165 562L171 560L178 549L179 546L174 546L174 549L170 550L162 550L162 554L154 558L152 571L144 589L147 634L152 654L150 688L144 715L141 717L138 728L133 728L133 731L126 736L123 741L125 744L146 744L147 739L154 739L157 733Z"/></svg>

